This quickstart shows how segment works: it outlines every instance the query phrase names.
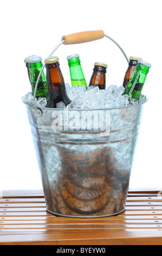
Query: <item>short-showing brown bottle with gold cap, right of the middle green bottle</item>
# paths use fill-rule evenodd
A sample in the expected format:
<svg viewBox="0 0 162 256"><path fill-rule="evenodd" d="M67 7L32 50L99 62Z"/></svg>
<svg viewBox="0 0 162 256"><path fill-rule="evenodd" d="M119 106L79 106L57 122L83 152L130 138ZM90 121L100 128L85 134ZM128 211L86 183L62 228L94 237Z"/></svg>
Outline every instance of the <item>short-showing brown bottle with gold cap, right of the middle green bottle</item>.
<svg viewBox="0 0 162 256"><path fill-rule="evenodd" d="M89 81L89 87L90 86L98 86L100 90L105 90L105 88L106 88L106 69L107 69L106 64L99 63L99 62L94 63L93 74Z"/></svg>

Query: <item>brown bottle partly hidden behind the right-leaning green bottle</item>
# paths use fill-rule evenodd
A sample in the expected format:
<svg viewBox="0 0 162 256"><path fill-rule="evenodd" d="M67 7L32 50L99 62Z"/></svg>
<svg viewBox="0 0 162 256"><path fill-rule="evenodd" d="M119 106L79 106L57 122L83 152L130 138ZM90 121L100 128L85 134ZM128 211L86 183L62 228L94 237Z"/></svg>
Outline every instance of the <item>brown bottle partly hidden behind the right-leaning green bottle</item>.
<svg viewBox="0 0 162 256"><path fill-rule="evenodd" d="M124 86L124 88L127 87L127 84L129 82L129 80L131 79L135 69L136 69L136 66L138 64L138 60L141 59L141 58L138 58L138 57L130 57L129 58L129 63L128 63L128 68L127 68L127 71L126 71L126 74L125 74L125 77L124 77L124 81L122 83L122 86Z"/></svg>

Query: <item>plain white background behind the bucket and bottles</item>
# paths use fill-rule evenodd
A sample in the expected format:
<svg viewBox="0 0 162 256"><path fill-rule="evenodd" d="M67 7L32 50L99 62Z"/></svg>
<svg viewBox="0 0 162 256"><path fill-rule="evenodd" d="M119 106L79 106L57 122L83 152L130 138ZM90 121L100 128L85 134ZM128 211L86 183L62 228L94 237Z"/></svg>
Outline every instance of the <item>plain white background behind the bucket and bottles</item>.
<svg viewBox="0 0 162 256"><path fill-rule="evenodd" d="M33 139L21 96L30 84L24 58L44 58L63 35L102 29L124 49L152 64L142 94L144 108L135 154L130 190L162 190L161 178L161 1L3 1L1 3L1 164L0 190L40 189L40 174ZM60 59L65 82L70 83L66 57L78 53L89 83L94 62L108 65L107 86L121 86L127 62L109 39L79 45L61 45Z"/></svg>

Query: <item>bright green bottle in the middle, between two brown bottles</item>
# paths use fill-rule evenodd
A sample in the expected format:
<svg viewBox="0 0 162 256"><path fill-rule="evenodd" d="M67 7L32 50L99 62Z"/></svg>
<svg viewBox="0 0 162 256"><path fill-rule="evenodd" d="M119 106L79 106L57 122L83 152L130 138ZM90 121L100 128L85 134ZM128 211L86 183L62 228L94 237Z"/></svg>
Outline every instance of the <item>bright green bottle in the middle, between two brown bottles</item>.
<svg viewBox="0 0 162 256"><path fill-rule="evenodd" d="M70 78L72 82L72 87L76 84L79 86L85 86L87 89L87 83L85 80L85 76L83 74L82 66L80 64L80 56L79 54L73 54L67 57Z"/></svg>

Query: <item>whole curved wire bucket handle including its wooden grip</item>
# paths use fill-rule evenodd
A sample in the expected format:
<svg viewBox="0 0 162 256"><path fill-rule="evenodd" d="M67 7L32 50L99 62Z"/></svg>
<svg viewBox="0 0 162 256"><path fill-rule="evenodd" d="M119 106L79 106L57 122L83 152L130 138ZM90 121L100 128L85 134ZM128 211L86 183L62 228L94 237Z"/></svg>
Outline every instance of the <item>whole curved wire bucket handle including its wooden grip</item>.
<svg viewBox="0 0 162 256"><path fill-rule="evenodd" d="M85 31L85 32L79 32L79 33L74 33L74 34L69 34L69 35L64 35L62 36L62 41L60 42L59 45L57 45L54 50L49 54L48 57L52 56L52 54L57 50L57 48L59 48L62 44L64 45L70 45L70 44L82 44L83 42L90 42L90 41L94 41L94 40L98 40L98 39L102 39L104 36L106 36L106 38L112 40L122 51L122 53L124 54L127 62L129 62L125 52L122 50L122 48L120 47L120 45L113 40L110 36L106 35L102 30L96 30L96 31ZM36 97L36 91L37 91L37 87L38 87L38 82L40 81L40 77L42 74L42 71L44 69L44 66L46 64L44 63L42 66L42 69L40 71L40 74L38 75L37 81L36 81L36 85L35 85L35 91L34 91L34 95L33 95L33 100L28 101L28 105L32 108L32 113L35 117L41 117L42 115L42 110L37 108L35 105L35 97Z"/></svg>

